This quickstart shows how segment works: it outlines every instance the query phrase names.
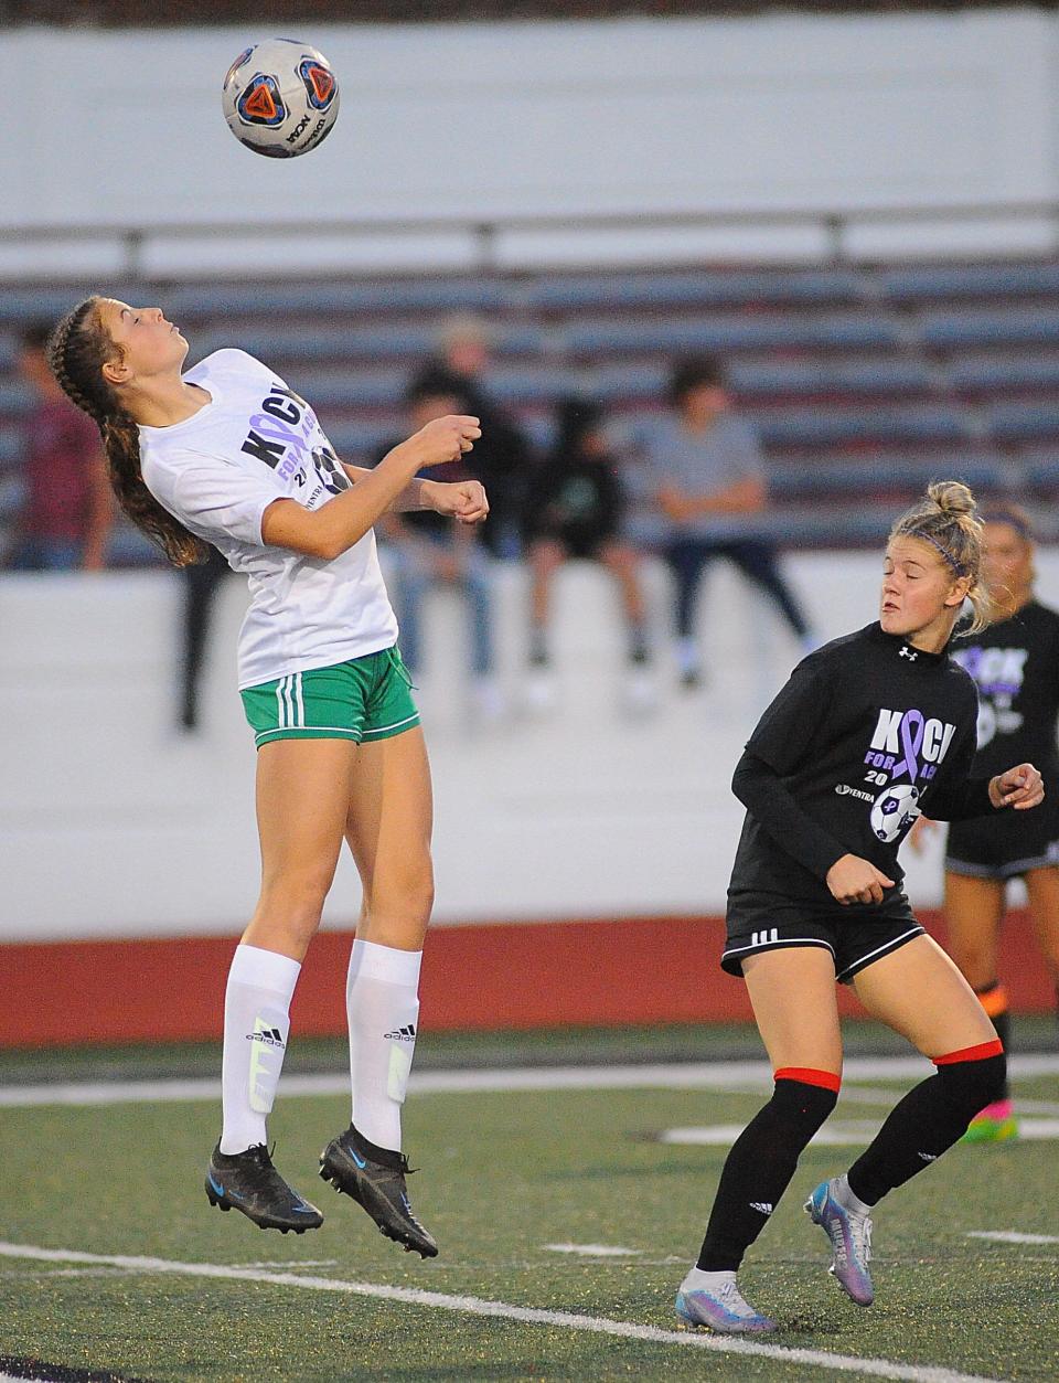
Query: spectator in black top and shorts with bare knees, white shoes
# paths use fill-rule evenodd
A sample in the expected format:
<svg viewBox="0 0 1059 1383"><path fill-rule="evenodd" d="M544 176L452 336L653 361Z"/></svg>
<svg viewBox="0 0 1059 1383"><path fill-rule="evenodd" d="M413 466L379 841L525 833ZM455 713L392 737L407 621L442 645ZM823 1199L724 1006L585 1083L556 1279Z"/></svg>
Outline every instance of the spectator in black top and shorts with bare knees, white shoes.
<svg viewBox="0 0 1059 1383"><path fill-rule="evenodd" d="M531 704L553 700L547 614L552 578L564 561L589 559L614 574L621 588L628 636L630 709L650 707L644 597L637 550L621 537L625 492L603 426L599 404L565 398L557 411L550 456L530 481L523 534L532 575L530 611Z"/></svg>

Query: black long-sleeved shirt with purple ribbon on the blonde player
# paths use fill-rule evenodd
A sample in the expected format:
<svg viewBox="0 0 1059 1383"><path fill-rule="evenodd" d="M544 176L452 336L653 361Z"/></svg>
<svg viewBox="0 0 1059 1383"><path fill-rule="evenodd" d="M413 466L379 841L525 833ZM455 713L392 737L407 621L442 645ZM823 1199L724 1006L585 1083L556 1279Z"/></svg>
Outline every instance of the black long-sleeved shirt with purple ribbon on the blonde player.
<svg viewBox="0 0 1059 1383"><path fill-rule="evenodd" d="M843 855L871 860L901 896L900 846L921 812L962 820L993 810L969 779L977 698L947 653L871 624L805 658L760 718L733 779L747 806L729 885L847 911L825 877ZM1009 765L1005 765L1005 768Z"/></svg>

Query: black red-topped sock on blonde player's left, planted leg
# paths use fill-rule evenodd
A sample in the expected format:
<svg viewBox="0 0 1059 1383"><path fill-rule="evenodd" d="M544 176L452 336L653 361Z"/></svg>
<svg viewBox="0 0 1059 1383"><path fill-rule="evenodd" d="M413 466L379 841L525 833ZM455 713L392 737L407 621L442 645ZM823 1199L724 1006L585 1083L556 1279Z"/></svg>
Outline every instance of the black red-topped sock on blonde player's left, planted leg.
<svg viewBox="0 0 1059 1383"><path fill-rule="evenodd" d="M838 1076L798 1069L794 1077L794 1070L776 1072L771 1099L731 1145L698 1256L704 1272L738 1268L787 1191L802 1149L835 1108Z"/></svg>

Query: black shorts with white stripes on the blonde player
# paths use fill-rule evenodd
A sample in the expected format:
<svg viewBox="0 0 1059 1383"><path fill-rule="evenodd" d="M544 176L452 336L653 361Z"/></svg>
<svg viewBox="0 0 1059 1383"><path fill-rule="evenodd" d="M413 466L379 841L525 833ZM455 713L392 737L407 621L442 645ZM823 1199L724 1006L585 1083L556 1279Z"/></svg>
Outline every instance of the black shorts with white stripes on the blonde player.
<svg viewBox="0 0 1059 1383"><path fill-rule="evenodd" d="M720 965L729 975L742 975L748 956L818 946L831 953L835 979L847 985L865 965L922 936L924 931L903 896L888 899L881 907L853 903L841 914L825 914L769 893L744 895L729 903Z"/></svg>

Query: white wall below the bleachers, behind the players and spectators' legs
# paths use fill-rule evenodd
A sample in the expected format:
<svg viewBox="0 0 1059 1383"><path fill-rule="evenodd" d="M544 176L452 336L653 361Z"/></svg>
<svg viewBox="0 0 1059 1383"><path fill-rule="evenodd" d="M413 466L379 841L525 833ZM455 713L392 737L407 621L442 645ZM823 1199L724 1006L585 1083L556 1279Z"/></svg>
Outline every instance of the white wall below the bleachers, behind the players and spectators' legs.
<svg viewBox="0 0 1059 1383"><path fill-rule="evenodd" d="M805 553L789 570L821 636L872 617L872 555ZM1059 597L1059 552L1041 591ZM235 693L243 606L228 584L200 737L173 722L177 581L166 573L0 579L0 940L236 932L253 907L254 751ZM662 573L651 571L657 624ZM502 573L502 676L518 686L523 575ZM718 913L741 824L729 779L753 721L798 657L770 609L730 571L701 609L709 687L680 694L659 658L662 701L618 707L614 591L592 567L557 591L553 715L467 729L459 609L440 595L422 678L437 791L441 922ZM937 900L937 842L906 860L912 896ZM359 889L344 862L329 920L350 925Z"/></svg>

